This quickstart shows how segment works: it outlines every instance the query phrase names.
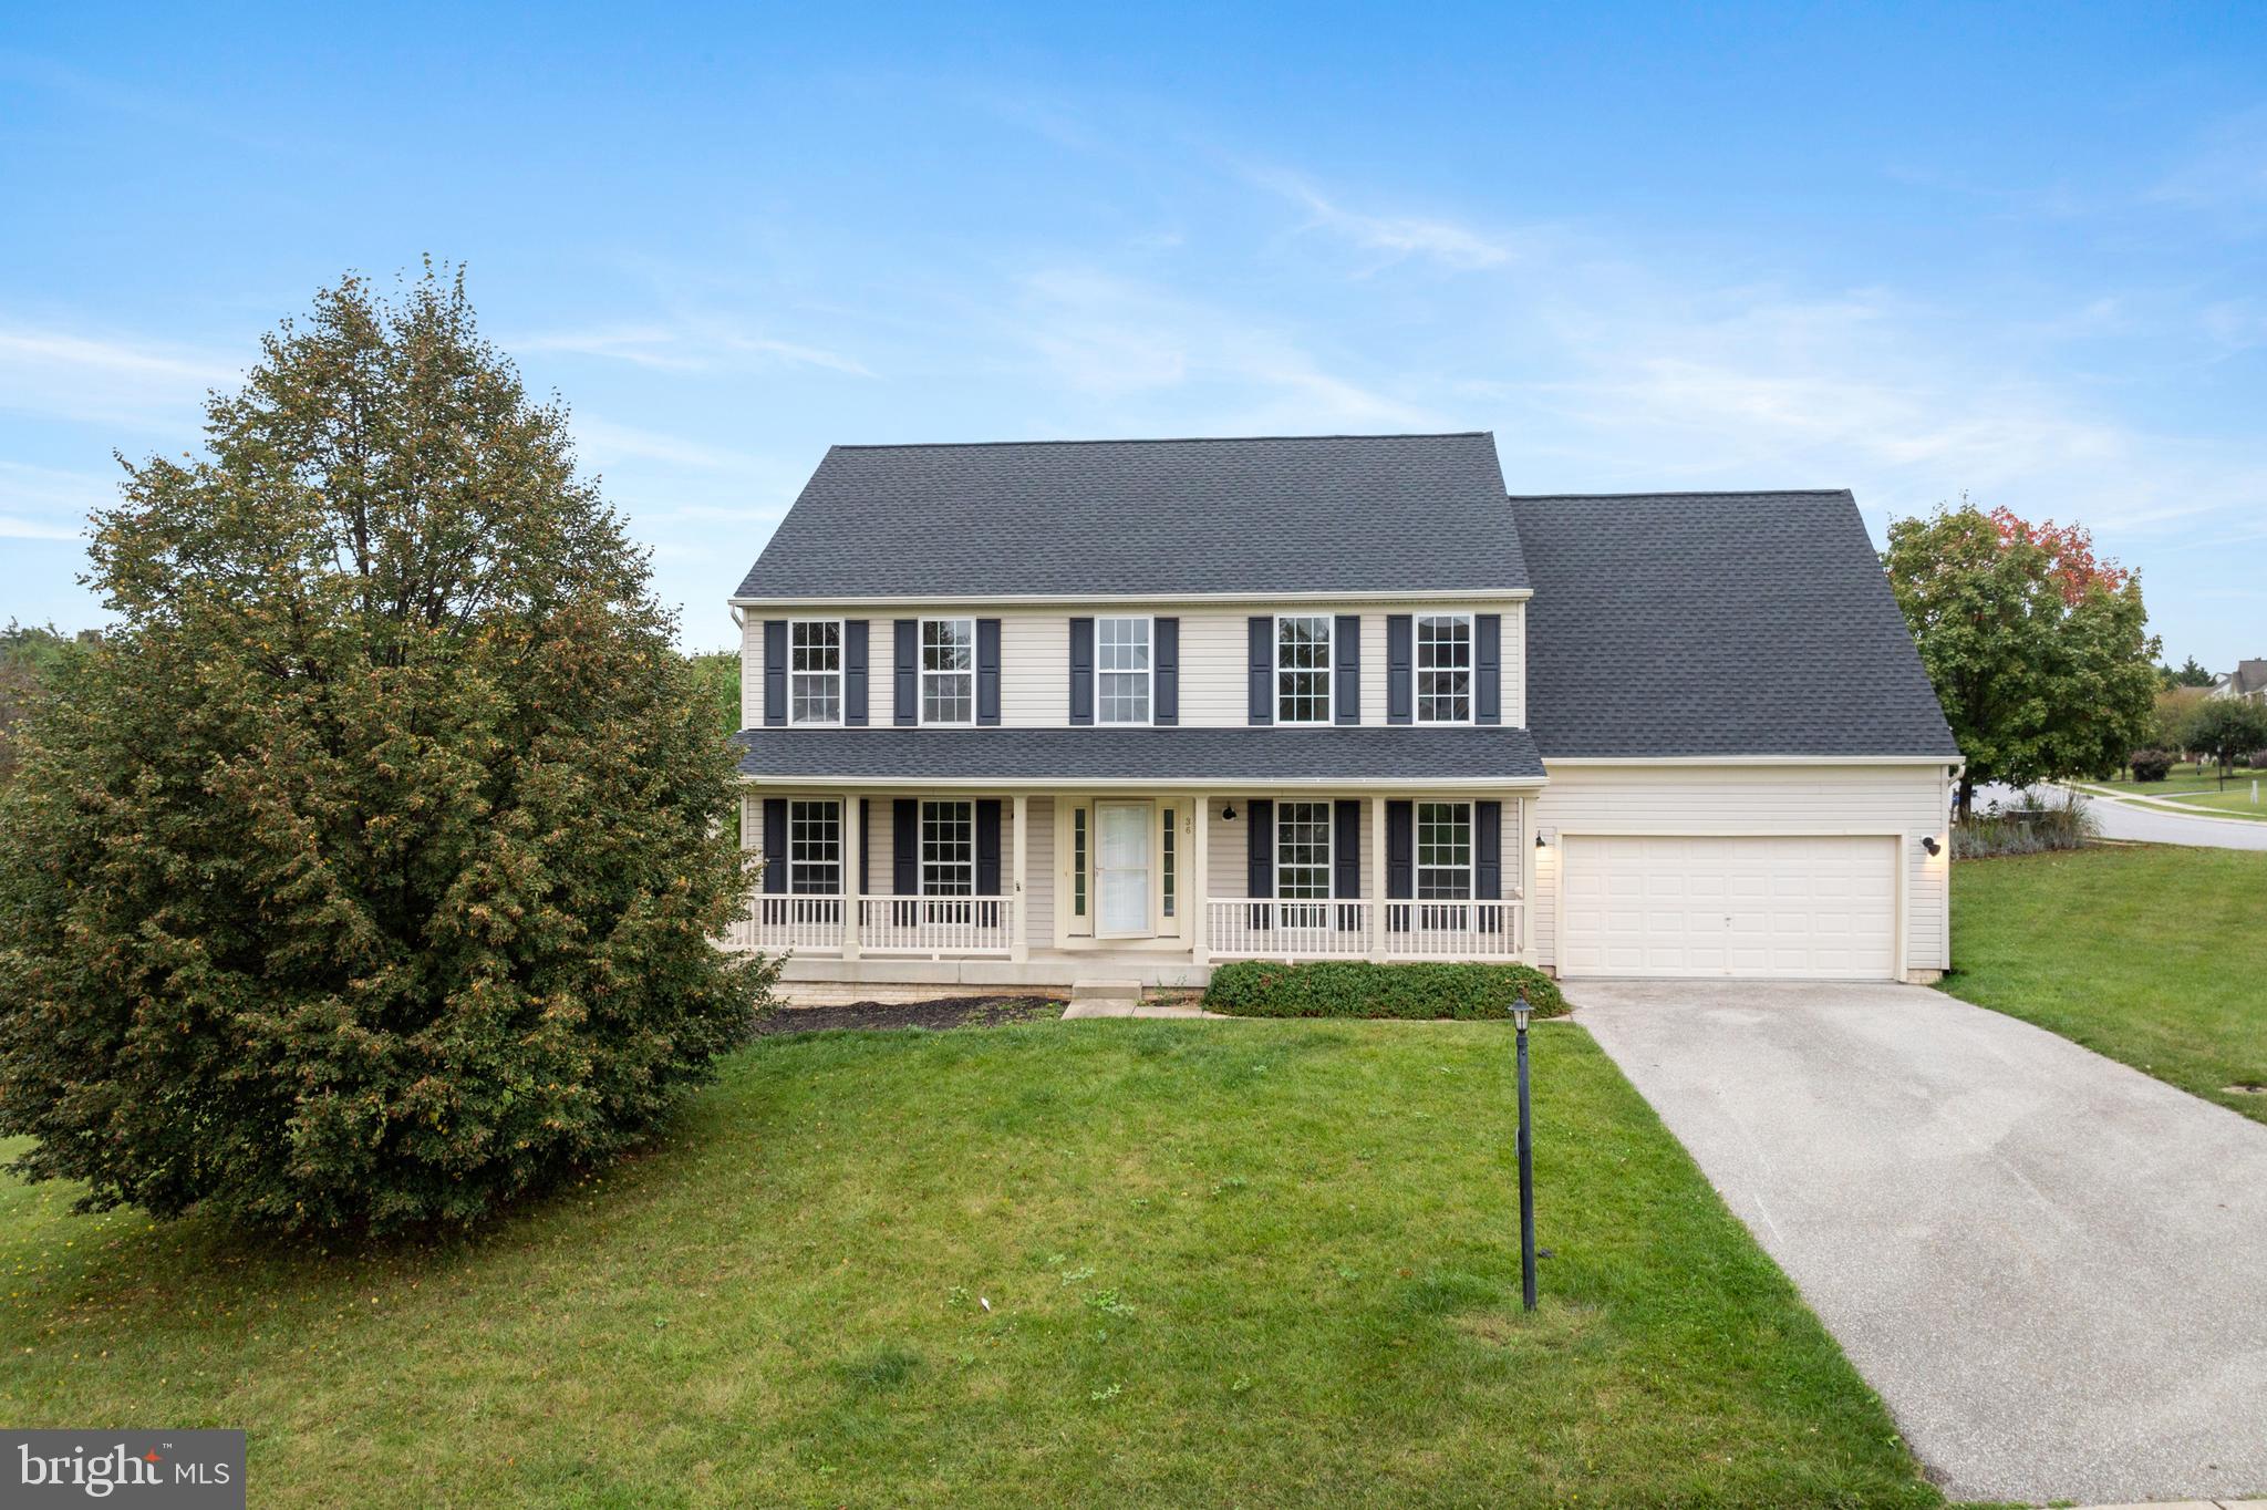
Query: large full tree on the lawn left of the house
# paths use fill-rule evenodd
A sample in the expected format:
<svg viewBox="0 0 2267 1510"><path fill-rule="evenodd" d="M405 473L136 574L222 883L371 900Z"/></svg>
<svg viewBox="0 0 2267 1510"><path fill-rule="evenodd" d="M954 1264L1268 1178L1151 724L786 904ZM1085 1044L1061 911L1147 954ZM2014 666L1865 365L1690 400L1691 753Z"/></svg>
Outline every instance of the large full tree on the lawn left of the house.
<svg viewBox="0 0 2267 1510"><path fill-rule="evenodd" d="M467 1222L642 1136L769 966L642 551L462 279L349 277L95 515L0 796L0 1131L86 1206Z"/></svg>

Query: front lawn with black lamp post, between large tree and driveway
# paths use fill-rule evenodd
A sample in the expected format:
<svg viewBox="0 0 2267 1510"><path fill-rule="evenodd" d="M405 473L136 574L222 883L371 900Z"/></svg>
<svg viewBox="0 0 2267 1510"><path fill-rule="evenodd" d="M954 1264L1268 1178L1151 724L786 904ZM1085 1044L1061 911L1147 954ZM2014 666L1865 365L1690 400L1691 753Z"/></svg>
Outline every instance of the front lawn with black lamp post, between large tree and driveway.
<svg viewBox="0 0 2267 1510"><path fill-rule="evenodd" d="M0 1184L0 1419L249 1426L258 1505L1938 1503L1571 1025L1519 1313L1510 1045L769 1038L651 1156L379 1258Z"/></svg>

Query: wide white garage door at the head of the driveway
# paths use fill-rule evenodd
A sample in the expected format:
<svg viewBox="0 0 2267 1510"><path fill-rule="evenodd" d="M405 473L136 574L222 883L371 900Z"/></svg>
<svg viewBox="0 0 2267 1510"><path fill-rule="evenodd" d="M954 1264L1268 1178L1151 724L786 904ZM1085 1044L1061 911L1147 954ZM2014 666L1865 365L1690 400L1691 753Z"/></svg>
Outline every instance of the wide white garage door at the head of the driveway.
<svg viewBox="0 0 2267 1510"><path fill-rule="evenodd" d="M1564 975L1888 979L1895 839L1569 834Z"/></svg>

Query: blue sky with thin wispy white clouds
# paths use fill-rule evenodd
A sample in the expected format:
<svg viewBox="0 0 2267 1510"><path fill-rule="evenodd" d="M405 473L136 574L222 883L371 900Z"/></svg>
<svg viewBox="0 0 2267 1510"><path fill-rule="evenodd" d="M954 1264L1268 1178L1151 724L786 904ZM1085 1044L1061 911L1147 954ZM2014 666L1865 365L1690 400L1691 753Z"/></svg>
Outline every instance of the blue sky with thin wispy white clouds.
<svg viewBox="0 0 2267 1510"><path fill-rule="evenodd" d="M2260 7L188 9L0 20L0 617L433 254L691 646L830 442L1489 429L2079 519L2267 655Z"/></svg>

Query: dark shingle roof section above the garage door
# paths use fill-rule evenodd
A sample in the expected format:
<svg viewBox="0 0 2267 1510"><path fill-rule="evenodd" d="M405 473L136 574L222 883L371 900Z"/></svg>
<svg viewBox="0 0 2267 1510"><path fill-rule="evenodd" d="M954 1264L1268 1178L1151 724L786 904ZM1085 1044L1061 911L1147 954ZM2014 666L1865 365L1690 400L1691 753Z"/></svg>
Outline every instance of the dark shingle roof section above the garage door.
<svg viewBox="0 0 2267 1510"><path fill-rule="evenodd" d="M1848 492L1512 499L1544 760L1959 757Z"/></svg>

